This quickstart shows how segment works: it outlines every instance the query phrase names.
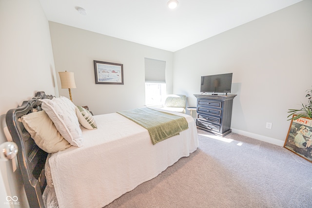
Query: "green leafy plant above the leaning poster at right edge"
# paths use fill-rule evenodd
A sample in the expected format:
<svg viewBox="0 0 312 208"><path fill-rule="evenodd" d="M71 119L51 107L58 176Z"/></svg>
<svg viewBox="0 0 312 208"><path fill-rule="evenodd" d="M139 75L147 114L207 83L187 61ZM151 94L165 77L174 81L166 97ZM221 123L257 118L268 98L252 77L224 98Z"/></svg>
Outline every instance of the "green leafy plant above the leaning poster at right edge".
<svg viewBox="0 0 312 208"><path fill-rule="evenodd" d="M307 92L308 94L306 95L306 97L308 97L308 104L302 103L301 109L288 109L289 112L287 113L291 113L291 114L289 114L287 117L291 117L292 115L295 115L288 120L296 120L301 117L308 117L312 119L312 90L307 90Z"/></svg>

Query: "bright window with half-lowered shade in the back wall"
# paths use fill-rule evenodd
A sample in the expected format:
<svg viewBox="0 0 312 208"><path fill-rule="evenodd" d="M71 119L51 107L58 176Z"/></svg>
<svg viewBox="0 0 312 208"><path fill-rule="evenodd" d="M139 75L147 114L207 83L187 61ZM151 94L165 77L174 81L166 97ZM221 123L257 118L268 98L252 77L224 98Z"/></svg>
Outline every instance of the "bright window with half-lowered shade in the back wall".
<svg viewBox="0 0 312 208"><path fill-rule="evenodd" d="M166 95L166 61L144 58L145 105L159 105Z"/></svg>

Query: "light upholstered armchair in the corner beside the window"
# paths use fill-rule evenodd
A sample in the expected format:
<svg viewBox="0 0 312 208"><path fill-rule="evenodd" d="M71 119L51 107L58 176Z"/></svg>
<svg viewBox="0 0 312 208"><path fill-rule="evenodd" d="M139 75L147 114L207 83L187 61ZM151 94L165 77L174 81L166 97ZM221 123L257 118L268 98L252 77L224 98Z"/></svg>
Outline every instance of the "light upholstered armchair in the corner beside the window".
<svg viewBox="0 0 312 208"><path fill-rule="evenodd" d="M185 113L186 95L167 95L165 103L161 109Z"/></svg>

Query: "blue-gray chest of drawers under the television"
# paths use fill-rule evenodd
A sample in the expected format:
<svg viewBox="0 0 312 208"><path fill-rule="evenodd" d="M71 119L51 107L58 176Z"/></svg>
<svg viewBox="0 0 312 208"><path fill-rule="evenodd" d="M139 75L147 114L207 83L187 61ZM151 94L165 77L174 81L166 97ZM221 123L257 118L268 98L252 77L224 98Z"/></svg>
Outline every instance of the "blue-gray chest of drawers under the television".
<svg viewBox="0 0 312 208"><path fill-rule="evenodd" d="M219 136L231 133L233 99L236 95L194 95L197 98L196 126Z"/></svg>

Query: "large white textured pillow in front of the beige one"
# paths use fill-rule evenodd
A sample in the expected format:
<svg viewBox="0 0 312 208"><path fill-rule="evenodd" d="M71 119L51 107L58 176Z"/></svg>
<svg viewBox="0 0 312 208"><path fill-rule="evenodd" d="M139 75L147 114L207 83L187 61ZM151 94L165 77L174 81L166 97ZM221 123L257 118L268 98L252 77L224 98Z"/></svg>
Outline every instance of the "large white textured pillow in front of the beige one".
<svg viewBox="0 0 312 208"><path fill-rule="evenodd" d="M69 144L81 147L82 132L76 115L76 106L67 97L39 99L41 108L49 115L59 133Z"/></svg>

